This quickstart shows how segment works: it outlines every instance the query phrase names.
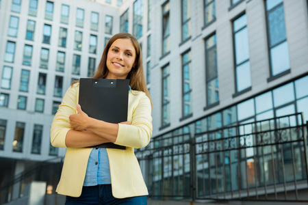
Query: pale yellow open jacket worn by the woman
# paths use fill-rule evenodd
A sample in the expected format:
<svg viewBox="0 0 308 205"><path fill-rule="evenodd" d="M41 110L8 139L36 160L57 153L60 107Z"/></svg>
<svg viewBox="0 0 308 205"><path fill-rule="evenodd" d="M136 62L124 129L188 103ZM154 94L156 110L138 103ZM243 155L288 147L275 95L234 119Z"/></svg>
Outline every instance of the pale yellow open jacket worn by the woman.
<svg viewBox="0 0 308 205"><path fill-rule="evenodd" d="M79 83L70 86L64 95L53 123L51 144L66 148L66 133L70 130L69 115L77 113ZM81 107L82 109L82 107ZM127 146L126 150L107 148L110 161L112 194L116 198L148 195L140 165L133 148L148 145L152 135L151 102L144 92L131 90L128 103L128 124L118 124L116 144ZM88 158L92 148L67 148L57 193L79 197L86 176Z"/></svg>

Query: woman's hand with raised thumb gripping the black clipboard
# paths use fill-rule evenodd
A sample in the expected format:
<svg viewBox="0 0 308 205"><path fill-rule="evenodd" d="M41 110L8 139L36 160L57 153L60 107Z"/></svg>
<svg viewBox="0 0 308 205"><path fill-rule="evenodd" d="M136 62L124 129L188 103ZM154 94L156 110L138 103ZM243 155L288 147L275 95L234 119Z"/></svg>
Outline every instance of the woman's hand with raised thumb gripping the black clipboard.
<svg viewBox="0 0 308 205"><path fill-rule="evenodd" d="M75 131L84 131L88 127L89 116L81 110L81 106L77 105L77 114L70 115L70 126Z"/></svg>

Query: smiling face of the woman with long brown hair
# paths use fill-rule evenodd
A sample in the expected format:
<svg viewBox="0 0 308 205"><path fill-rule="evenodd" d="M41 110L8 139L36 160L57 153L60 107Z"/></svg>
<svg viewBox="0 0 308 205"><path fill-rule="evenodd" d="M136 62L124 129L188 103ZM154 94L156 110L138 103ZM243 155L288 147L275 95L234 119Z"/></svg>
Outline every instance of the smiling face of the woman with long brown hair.
<svg viewBox="0 0 308 205"><path fill-rule="evenodd" d="M131 40L118 38L107 53L106 66L108 74L106 79L126 79L136 59L136 51Z"/></svg>

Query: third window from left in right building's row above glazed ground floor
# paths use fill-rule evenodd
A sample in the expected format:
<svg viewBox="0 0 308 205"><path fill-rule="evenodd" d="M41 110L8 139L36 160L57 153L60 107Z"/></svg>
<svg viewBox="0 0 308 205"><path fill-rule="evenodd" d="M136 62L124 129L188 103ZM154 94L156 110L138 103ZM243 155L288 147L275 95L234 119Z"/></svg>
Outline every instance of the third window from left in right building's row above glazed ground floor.
<svg viewBox="0 0 308 205"><path fill-rule="evenodd" d="M219 101L216 34L205 41L206 79L207 79L207 105Z"/></svg>

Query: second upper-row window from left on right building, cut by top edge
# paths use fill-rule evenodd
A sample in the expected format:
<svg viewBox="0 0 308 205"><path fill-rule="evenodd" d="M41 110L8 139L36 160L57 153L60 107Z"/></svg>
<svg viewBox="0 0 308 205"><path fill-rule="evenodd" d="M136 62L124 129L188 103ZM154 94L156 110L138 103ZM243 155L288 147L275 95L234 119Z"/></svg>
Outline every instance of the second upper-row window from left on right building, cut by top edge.
<svg viewBox="0 0 308 205"><path fill-rule="evenodd" d="M190 0L182 0L182 41L190 38Z"/></svg>

